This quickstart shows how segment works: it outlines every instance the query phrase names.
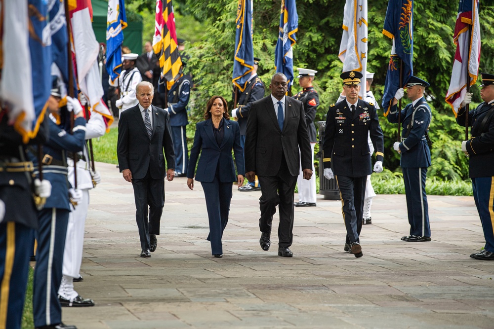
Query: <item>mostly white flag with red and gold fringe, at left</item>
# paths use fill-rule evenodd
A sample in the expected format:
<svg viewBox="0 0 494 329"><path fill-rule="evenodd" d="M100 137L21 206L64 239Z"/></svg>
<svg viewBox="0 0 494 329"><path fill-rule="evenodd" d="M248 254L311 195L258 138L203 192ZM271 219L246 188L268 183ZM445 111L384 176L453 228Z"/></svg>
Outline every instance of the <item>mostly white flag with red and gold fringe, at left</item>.
<svg viewBox="0 0 494 329"><path fill-rule="evenodd" d="M91 110L105 117L108 130L113 122L113 115L101 100L104 91L97 61L99 43L91 25L91 1L77 0L77 6L70 10L70 17L79 88L86 96Z"/></svg>

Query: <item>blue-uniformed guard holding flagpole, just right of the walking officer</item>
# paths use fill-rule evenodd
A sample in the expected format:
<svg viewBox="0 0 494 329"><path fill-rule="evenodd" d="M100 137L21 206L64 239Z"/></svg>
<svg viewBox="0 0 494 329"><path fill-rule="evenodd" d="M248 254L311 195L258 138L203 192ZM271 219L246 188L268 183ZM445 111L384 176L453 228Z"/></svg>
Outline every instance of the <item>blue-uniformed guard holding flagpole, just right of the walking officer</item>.
<svg viewBox="0 0 494 329"><path fill-rule="evenodd" d="M410 223L410 235L401 239L408 242L431 241L429 206L425 193L427 168L431 165L427 130L432 114L424 98L424 91L428 86L427 81L416 76L412 76L405 85L407 96L412 103L401 110L402 142L395 142L393 145L401 154L400 166L403 169ZM398 89L387 116L391 123L398 123L397 104L403 95L404 89Z"/></svg>

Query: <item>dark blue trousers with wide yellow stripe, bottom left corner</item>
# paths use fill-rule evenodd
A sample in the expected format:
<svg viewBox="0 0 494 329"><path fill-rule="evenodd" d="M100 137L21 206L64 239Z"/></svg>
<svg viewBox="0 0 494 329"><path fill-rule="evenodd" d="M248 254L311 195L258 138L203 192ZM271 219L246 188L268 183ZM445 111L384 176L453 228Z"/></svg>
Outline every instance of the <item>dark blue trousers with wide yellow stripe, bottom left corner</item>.
<svg viewBox="0 0 494 329"><path fill-rule="evenodd" d="M13 221L0 224L0 329L21 328L33 229Z"/></svg>

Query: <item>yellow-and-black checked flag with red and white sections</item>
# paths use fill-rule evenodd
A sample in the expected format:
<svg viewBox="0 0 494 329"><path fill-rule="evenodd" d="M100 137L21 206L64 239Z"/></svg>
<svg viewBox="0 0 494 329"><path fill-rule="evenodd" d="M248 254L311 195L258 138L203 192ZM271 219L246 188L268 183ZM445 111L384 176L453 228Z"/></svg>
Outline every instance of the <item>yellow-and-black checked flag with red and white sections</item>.
<svg viewBox="0 0 494 329"><path fill-rule="evenodd" d="M171 0L156 0L156 24L153 49L160 58L166 89L182 76L182 59L178 53L175 16Z"/></svg>

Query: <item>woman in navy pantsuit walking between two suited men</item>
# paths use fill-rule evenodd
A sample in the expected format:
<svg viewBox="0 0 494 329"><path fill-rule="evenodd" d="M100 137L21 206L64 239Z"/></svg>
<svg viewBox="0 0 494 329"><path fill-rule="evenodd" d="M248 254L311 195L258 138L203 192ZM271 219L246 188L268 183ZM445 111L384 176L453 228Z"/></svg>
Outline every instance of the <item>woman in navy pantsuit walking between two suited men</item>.
<svg viewBox="0 0 494 329"><path fill-rule="evenodd" d="M229 120L228 106L223 97L213 96L209 99L204 118L205 121L196 124L187 168L187 185L190 189L194 188L196 171L196 181L201 182L206 197L209 218L207 240L211 242L211 254L220 258L223 256L221 237L230 212L232 182L238 182L240 186L244 183L244 155L240 146L239 124ZM232 149L238 175L235 175ZM199 153L201 158L195 170Z"/></svg>

